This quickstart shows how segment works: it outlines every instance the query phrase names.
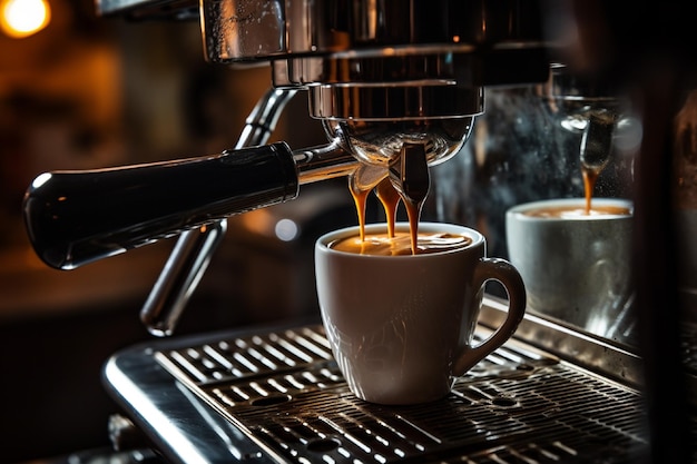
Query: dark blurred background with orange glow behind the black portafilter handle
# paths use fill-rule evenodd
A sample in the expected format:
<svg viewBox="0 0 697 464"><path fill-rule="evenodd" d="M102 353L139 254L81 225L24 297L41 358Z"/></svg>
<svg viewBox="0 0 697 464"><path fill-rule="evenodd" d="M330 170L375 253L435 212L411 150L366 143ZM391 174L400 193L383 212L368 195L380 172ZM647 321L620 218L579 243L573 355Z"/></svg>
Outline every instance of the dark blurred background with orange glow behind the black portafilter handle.
<svg viewBox="0 0 697 464"><path fill-rule="evenodd" d="M42 29L12 30L7 18L20 8L46 8ZM26 188L47 170L233 148L271 71L207 65L196 20L99 18L90 0L0 0L0 462L13 463L109 445L117 409L100 369L110 354L151 337L138 313L175 241L55 270L26 237ZM291 101L272 141L325 142L306 105ZM177 334L317 314L314 238L356 224L345 179L323 184L230 219Z"/></svg>

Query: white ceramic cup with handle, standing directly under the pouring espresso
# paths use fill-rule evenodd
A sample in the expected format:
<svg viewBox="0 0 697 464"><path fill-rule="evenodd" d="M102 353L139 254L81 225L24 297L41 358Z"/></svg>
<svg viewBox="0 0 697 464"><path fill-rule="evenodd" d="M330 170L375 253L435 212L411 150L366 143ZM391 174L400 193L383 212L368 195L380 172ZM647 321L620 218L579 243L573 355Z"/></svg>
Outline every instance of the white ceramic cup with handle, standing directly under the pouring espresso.
<svg viewBox="0 0 697 464"><path fill-rule="evenodd" d="M409 230L397 224L397 231ZM369 225L366 234L386 225ZM357 236L350 227L315 245L322 319L338 367L351 391L379 404L416 404L448 395L457 377L505 343L524 315L526 289L508 261L485 257L477 230L421 223L420 233L471 238L465 247L423 255L371 256L330 248ZM503 324L474 345L484 283L498 280L509 294Z"/></svg>

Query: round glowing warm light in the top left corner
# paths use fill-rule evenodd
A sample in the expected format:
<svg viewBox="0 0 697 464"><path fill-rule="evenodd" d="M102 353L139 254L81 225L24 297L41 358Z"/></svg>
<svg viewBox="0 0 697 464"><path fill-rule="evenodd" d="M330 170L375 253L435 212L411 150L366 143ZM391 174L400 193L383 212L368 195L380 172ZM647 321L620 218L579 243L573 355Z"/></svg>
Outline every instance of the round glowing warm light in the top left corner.
<svg viewBox="0 0 697 464"><path fill-rule="evenodd" d="M43 29L51 20L47 0L0 0L0 29L21 39Z"/></svg>

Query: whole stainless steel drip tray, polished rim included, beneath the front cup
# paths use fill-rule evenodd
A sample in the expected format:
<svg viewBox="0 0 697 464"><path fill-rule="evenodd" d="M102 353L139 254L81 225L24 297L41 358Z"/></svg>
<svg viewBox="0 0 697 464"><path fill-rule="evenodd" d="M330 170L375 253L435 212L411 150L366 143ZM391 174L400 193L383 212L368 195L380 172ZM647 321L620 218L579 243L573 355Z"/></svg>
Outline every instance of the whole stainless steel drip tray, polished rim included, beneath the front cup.
<svg viewBox="0 0 697 464"><path fill-rule="evenodd" d="M501 310L488 300L484 322ZM539 323L527 319L523 333L559 329ZM592 342L580 335L577 346ZM621 349L610 357L638 366ZM315 323L132 347L109 361L105 381L174 462L625 463L648 450L636 387L520 339L449 397L409 407L355 398Z"/></svg>

